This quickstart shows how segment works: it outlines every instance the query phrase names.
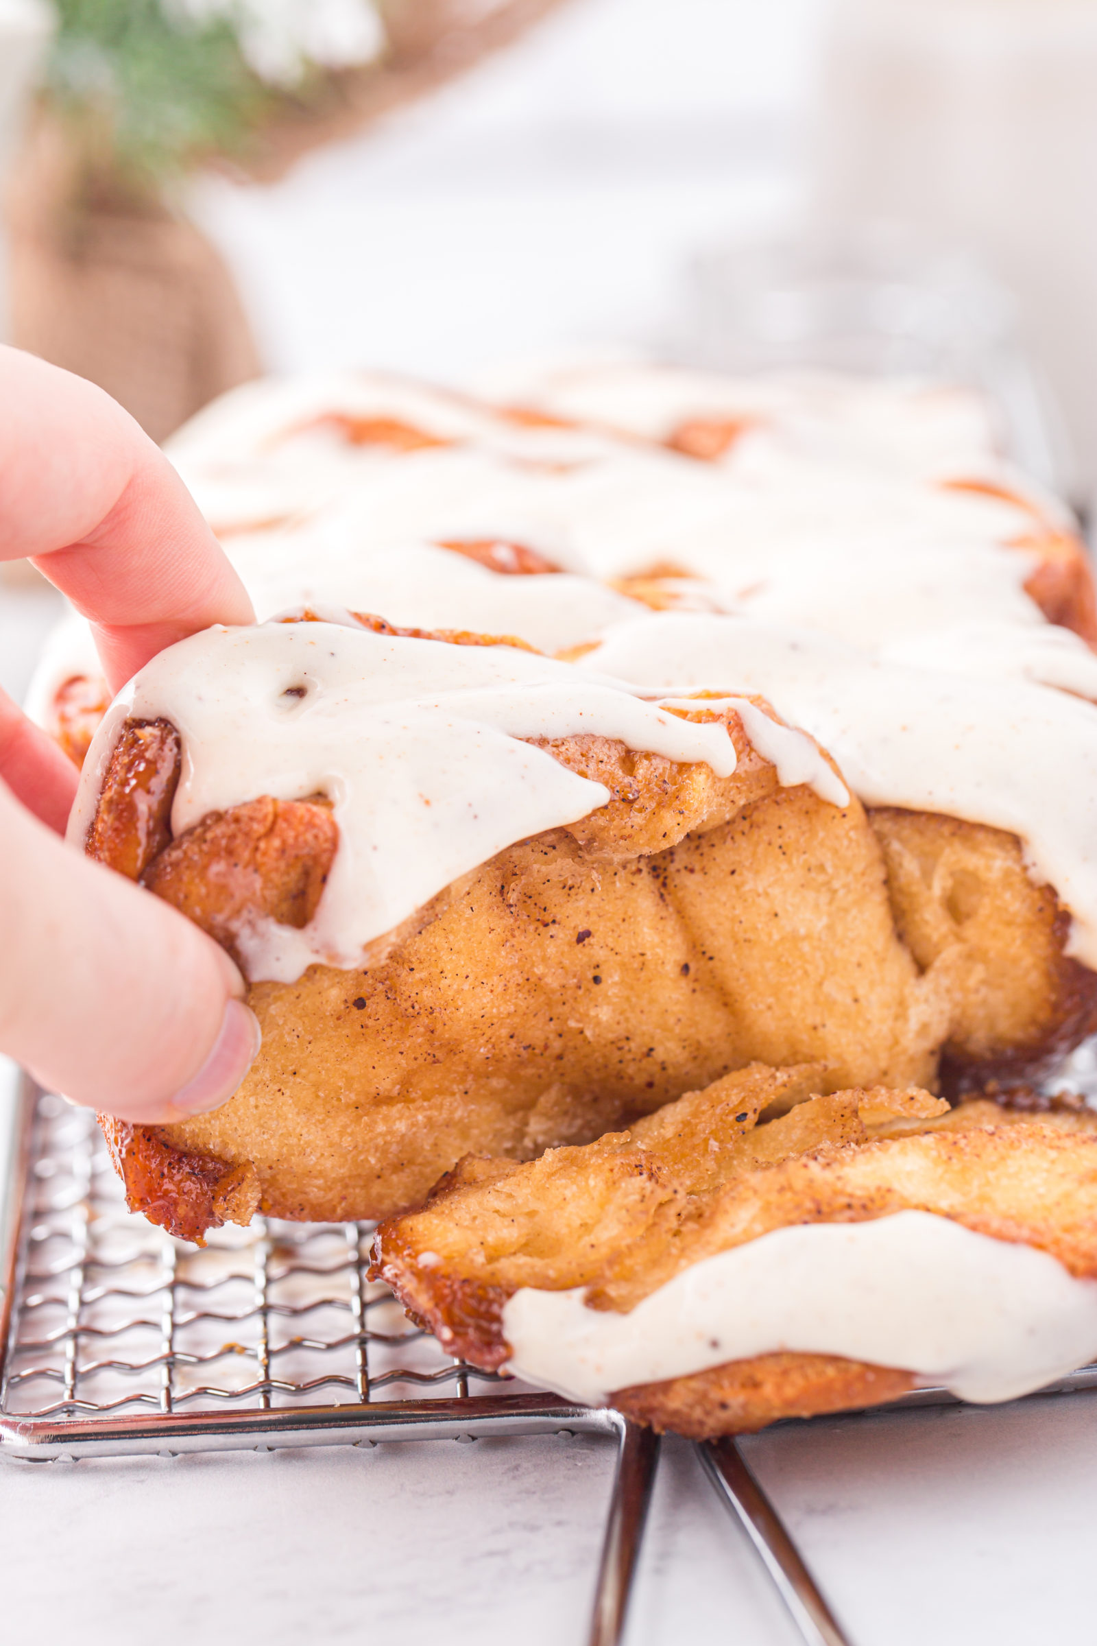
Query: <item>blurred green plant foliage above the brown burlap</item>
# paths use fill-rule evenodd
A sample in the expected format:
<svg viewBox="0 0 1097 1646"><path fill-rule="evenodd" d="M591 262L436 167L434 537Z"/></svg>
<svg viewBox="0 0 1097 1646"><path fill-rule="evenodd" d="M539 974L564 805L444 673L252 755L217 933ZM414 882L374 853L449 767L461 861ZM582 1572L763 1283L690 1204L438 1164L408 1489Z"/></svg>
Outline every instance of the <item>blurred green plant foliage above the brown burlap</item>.
<svg viewBox="0 0 1097 1646"><path fill-rule="evenodd" d="M58 0L58 16L46 94L86 171L127 193L243 153L278 100L225 20L192 21L171 0Z"/></svg>

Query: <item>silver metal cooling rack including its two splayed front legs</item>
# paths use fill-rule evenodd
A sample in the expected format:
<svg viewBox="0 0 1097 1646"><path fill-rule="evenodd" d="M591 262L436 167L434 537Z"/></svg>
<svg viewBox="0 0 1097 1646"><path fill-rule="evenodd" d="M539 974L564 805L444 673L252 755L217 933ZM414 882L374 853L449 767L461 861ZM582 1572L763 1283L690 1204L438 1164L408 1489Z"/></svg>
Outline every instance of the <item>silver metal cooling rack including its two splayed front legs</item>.
<svg viewBox="0 0 1097 1646"><path fill-rule="evenodd" d="M94 1116L30 1081L5 1210L0 1458L615 1435L590 1646L620 1641L658 1437L446 1355L368 1279L370 1225L257 1218L176 1241L127 1211ZM1054 1388L1097 1388L1097 1366ZM742 1450L699 1450L808 1646L847 1646Z"/></svg>

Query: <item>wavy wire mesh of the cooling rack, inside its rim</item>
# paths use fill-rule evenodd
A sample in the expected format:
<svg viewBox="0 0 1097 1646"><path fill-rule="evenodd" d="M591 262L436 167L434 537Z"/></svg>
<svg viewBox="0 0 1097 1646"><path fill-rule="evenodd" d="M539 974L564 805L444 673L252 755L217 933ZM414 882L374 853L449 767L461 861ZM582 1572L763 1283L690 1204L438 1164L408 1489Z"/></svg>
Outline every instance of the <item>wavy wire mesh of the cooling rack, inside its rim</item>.
<svg viewBox="0 0 1097 1646"><path fill-rule="evenodd" d="M39 1096L3 1416L368 1406L498 1379L367 1279L370 1225L257 1218L196 1249L125 1210L94 1116Z"/></svg>

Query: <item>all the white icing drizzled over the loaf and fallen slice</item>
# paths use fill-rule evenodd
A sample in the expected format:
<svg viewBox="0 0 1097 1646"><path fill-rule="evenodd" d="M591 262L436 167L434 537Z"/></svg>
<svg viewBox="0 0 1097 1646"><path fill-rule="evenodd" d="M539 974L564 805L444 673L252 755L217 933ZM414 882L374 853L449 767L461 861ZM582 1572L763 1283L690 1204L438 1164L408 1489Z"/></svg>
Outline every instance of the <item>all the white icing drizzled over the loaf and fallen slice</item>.
<svg viewBox="0 0 1097 1646"><path fill-rule="evenodd" d="M225 538L260 616L337 602L556 650L635 612L590 579L664 561L699 579L684 599L740 621L645 616L582 670L327 625L214 630L156 658L112 709L76 838L120 719L166 714L186 747L176 831L258 793L322 790L336 807L340 848L317 917L301 933L270 922L242 933L252 976L350 966L493 851L605 802L521 737L597 731L730 770L722 729L664 714L587 672L599 668L633 690L761 693L837 756L865 802L1018 833L1072 910L1074 950L1097 965L1097 719L1044 690L1097 696L1097 660L1023 593L1035 558L1008 545L1031 532L1033 510L1062 514L995 458L974 397L620 364L500 393L656 441L704 416L755 426L702 464L602 430L523 430L446 390L357 375L238 390L171 451L219 527L308 518ZM354 446L308 426L327 413L395 418L446 444ZM1033 510L937 484L957 476L1028 494ZM569 574L500 578L433 546L444 538L523 543ZM72 655L59 644L54 662L79 672ZM56 668L39 696L49 680ZM308 695L286 698L293 685ZM809 737L732 701L781 782L845 803ZM582 1399L778 1348L1005 1399L1097 1351L1097 1287L1046 1254L900 1213L780 1230L694 1266L630 1315L589 1310L582 1292L523 1290L505 1333L511 1369Z"/></svg>

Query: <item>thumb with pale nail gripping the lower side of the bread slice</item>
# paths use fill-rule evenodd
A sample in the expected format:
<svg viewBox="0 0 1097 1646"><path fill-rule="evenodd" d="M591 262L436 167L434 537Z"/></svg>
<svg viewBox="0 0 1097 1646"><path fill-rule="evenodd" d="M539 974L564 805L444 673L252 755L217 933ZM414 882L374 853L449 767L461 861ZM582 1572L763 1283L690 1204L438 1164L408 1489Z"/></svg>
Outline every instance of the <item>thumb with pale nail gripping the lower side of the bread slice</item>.
<svg viewBox="0 0 1097 1646"><path fill-rule="evenodd" d="M64 846L0 783L0 1050L122 1119L225 1103L258 1052L240 973L168 904Z"/></svg>

